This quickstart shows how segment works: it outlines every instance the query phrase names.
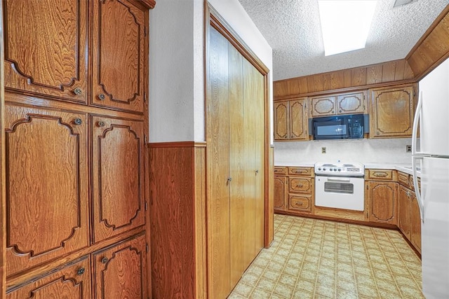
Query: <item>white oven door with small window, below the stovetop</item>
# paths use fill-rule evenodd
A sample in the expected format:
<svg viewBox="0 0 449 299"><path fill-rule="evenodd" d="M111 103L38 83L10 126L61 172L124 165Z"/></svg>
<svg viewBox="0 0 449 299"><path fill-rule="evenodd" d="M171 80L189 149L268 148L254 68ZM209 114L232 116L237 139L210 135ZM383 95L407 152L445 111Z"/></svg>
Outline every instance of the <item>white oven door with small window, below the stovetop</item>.
<svg viewBox="0 0 449 299"><path fill-rule="evenodd" d="M363 211L365 179L345 176L315 176L315 205Z"/></svg>

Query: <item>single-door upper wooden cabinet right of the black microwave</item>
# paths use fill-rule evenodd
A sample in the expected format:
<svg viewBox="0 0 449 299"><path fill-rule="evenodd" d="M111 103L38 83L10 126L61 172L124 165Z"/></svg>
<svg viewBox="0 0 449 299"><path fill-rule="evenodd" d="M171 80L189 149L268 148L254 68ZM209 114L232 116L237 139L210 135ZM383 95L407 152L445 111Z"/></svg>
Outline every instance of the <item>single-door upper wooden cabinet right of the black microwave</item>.
<svg viewBox="0 0 449 299"><path fill-rule="evenodd" d="M370 138L411 137L415 85L369 90Z"/></svg>

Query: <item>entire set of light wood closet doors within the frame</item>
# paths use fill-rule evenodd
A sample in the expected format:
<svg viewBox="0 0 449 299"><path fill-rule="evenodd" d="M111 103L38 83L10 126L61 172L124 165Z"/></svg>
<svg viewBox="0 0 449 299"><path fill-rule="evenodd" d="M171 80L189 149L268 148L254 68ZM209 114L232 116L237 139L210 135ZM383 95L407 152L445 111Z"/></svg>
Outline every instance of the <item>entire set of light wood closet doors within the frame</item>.
<svg viewBox="0 0 449 299"><path fill-rule="evenodd" d="M264 76L209 30L210 298L226 298L264 244Z"/></svg>

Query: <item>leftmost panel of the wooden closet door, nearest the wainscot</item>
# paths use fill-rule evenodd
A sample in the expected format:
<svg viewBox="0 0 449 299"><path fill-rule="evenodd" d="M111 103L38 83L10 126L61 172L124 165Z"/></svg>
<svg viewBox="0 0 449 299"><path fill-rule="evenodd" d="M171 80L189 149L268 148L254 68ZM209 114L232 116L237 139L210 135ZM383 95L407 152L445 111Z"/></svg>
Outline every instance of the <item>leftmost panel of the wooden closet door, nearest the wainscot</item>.
<svg viewBox="0 0 449 299"><path fill-rule="evenodd" d="M229 83L228 41L210 28L207 103L208 263L210 298L229 291Z"/></svg>

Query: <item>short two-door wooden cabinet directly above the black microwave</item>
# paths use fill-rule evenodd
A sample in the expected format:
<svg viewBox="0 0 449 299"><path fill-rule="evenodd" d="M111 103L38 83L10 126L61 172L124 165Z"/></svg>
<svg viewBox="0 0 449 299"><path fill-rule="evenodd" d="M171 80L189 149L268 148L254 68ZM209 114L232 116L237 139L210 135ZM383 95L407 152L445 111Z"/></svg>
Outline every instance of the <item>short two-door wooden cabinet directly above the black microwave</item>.
<svg viewBox="0 0 449 299"><path fill-rule="evenodd" d="M366 91L310 98L311 117L367 113Z"/></svg>

